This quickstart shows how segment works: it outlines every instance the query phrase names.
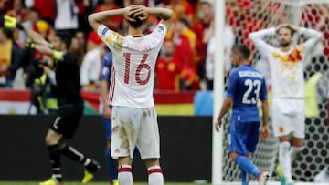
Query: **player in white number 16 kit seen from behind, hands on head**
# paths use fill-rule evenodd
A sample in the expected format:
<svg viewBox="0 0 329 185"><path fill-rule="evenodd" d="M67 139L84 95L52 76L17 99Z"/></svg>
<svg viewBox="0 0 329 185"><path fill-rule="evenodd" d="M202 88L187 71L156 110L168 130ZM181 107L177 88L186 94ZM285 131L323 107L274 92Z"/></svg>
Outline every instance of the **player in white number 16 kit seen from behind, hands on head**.
<svg viewBox="0 0 329 185"><path fill-rule="evenodd" d="M122 15L128 22L128 36L102 25L112 16ZM143 35L148 15L162 20L151 34ZM133 150L139 149L148 171L150 185L163 185L160 167L160 141L154 108L154 67L173 11L131 5L89 16L90 26L113 54L113 69L108 103L112 107L111 156L118 158L120 185L132 185Z"/></svg>

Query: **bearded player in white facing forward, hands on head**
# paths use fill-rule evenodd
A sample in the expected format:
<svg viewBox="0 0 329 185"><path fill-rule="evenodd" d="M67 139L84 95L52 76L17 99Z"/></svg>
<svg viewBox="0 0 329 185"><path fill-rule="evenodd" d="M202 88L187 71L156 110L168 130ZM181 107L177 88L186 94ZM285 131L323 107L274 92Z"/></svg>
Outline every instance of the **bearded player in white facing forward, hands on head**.
<svg viewBox="0 0 329 185"><path fill-rule="evenodd" d="M308 39L293 46L295 33ZM278 47L264 40L265 36L275 35L279 40ZM271 67L271 118L274 136L279 138L279 165L276 170L282 185L292 184L292 161L304 146L304 58L322 37L322 33L316 30L288 24L249 34L250 40Z"/></svg>

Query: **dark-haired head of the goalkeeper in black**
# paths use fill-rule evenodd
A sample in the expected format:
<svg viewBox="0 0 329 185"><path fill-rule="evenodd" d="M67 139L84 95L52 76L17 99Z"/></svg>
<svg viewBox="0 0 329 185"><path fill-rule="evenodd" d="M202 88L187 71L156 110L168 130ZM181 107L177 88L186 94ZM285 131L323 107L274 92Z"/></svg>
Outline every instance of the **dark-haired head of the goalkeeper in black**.
<svg viewBox="0 0 329 185"><path fill-rule="evenodd" d="M71 39L72 36L69 34L69 32L58 31L55 34L52 44L56 50L66 51L69 49L69 46L71 44Z"/></svg>

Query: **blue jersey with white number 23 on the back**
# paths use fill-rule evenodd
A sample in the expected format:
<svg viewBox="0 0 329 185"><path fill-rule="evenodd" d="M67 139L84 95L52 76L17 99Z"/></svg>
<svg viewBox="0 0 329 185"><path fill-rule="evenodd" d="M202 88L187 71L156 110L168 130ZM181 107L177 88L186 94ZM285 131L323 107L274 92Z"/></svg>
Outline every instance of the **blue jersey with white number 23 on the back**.
<svg viewBox="0 0 329 185"><path fill-rule="evenodd" d="M260 121L257 102L268 98L264 77L254 67L239 66L229 76L227 97L233 98L231 119Z"/></svg>

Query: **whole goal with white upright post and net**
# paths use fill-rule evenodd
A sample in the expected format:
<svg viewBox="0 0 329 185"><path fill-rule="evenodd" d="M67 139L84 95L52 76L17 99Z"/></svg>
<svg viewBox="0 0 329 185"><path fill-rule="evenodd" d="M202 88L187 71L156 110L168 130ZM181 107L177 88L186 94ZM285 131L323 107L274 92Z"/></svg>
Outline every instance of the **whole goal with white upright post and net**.
<svg viewBox="0 0 329 185"><path fill-rule="evenodd" d="M314 80L314 74L322 73L315 88L315 101L317 111L306 112L306 139L302 156L292 164L292 176L297 183L312 182L316 173L329 165L329 137L328 128L324 124L326 117L325 98L329 90L329 1L328 0L215 0L215 39L217 53L215 54L214 77L214 112L213 112L213 137L212 137L212 184L227 184L239 182L239 167L229 159L228 154L228 124L229 115L224 118L220 132L215 131L214 123L218 118L219 109L224 98L223 62L224 25L233 28L236 42L248 45L253 54L253 65L267 79L271 86L271 77L267 62L263 61L260 53L250 42L250 32L271 26L290 23L294 26L312 27L324 33L324 40L314 46L309 62L305 64L305 84ZM277 44L274 36L267 38L271 44ZM302 36L296 42L303 40ZM321 84L321 85L319 85ZM312 84L311 84L312 85ZM271 92L270 92L271 93ZM307 92L305 92L307 93ZM308 96L308 95L306 95ZM308 98L308 97L307 97ZM305 98L306 101L306 98ZM306 108L307 109L307 108ZM308 111L308 110L306 110ZM271 124L271 123L270 123ZM272 128L271 128L272 129ZM266 142L259 142L252 160L261 170L269 170L271 181L279 181L273 172L277 164L278 141L271 136Z"/></svg>

